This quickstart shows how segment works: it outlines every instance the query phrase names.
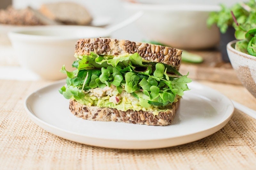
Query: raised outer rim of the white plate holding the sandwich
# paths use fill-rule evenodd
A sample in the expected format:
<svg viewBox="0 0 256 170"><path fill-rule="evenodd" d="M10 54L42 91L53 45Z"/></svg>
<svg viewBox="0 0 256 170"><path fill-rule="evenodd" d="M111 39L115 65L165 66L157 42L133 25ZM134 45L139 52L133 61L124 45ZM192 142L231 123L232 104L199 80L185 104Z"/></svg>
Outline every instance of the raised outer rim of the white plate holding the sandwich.
<svg viewBox="0 0 256 170"><path fill-rule="evenodd" d="M221 95L222 97L226 98L229 102L230 102L230 105L231 106L231 110L232 110L232 113L229 114L229 116L227 118L225 118L223 121L221 121L220 123L218 123L217 125L213 125L207 129L204 129L204 130L200 130L200 131L197 131L195 133L190 133L190 134L184 134L184 135L179 135L179 136L175 136L175 137L162 137L162 138L157 138L157 139L113 139L113 138L106 138L106 137L92 137L90 135L85 135L85 134L81 134L81 133L78 133L78 132L73 132L73 131L70 131L70 130L66 130L66 129L62 129L62 128L59 128L59 127L56 127L48 122L45 122L43 120L41 120L40 118L38 118L32 111L29 110L29 107L28 107L28 100L30 97L32 97L34 94L36 94L37 92L40 92L40 91L43 91L47 88L50 88L51 86L54 86L54 85L57 85L57 84L60 84L60 83L65 83L65 79L61 79L61 80L58 80L58 81L55 81L51 84L48 84L48 85L45 85L39 89L37 89L36 91L34 92L31 92L30 94L28 94L28 96L26 97L25 101L24 101L24 107L25 107L25 110L27 112L27 115L28 117L36 124L38 125L40 128L46 130L46 128L43 128L41 124L43 124L44 126L46 127L49 127L49 128L53 128L54 130L57 130L59 133L62 132L62 133L66 133L68 135L75 135L77 137L86 137L86 138L92 138L92 139L97 139L97 140L109 140L109 141L128 141L128 142L154 142L154 141L159 141L159 140L172 140L172 139L178 139L180 137L186 137L186 136L191 136L191 135L198 135L200 133L204 133L206 131L211 131L209 133L204 133L204 135L201 135L202 137L199 137L199 138L196 138L196 139L191 139L191 140L188 140L188 141L184 141L184 142L180 142L180 144L176 144L176 145L169 145L169 146L165 146L165 147L171 147L171 146L177 146L177 145L181 145L181 144L186 144L186 143L190 143L190 142L194 142L196 140L200 140L204 137L207 137L209 135L212 135L213 133L216 133L217 131L219 131L221 128L223 128L228 122L229 120L231 119L231 117L233 116L234 114L234 111L235 111L235 108L234 108L234 105L232 103L232 101L227 97L225 96L224 94L222 94L221 92L215 90L215 89L212 89L211 87L208 87L206 85L203 85L203 84L200 84L196 81L193 81L193 84L197 84L197 85L200 85L204 88L209 88L217 93L219 93L219 95ZM210 130L210 129L214 129L214 130ZM216 130L217 129L217 130ZM77 142L75 140L72 140L70 138L66 138L66 137L63 137L63 136L60 136L60 135L57 135L56 133L53 133L51 131L48 131L46 130L47 132L50 132L58 137L62 137L64 139L67 139L67 140L70 140L70 141L74 141L74 142ZM78 143L82 143L82 142L78 142ZM83 144L86 144L86 143L83 143ZM93 145L93 144L88 144L88 145ZM130 147L126 148L120 148L120 147L108 147L108 146L102 146L102 145L93 145L93 146L99 146L99 147L106 147L106 148L116 148L116 149L131 149ZM154 148L164 148L164 147L149 147L149 148L132 148L132 149L154 149Z"/></svg>

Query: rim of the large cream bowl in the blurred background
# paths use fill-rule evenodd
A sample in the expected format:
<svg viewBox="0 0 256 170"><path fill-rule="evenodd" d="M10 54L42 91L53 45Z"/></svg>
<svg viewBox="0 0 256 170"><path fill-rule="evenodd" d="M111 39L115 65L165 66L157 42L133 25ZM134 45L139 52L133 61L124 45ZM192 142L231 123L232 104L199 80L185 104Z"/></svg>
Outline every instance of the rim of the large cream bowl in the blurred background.
<svg viewBox="0 0 256 170"><path fill-rule="evenodd" d="M144 4L124 2L124 7L142 11L220 11L220 5L207 4Z"/></svg>

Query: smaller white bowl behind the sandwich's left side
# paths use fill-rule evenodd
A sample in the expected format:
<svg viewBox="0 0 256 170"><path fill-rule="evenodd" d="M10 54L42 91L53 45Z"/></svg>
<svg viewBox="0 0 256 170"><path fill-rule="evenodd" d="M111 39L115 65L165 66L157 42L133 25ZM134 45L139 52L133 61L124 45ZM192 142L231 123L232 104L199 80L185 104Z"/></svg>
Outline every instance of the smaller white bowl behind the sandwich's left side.
<svg viewBox="0 0 256 170"><path fill-rule="evenodd" d="M60 73L75 61L76 41L80 38L109 37L104 28L90 26L34 26L11 31L9 34L20 65L44 79L65 78Z"/></svg>

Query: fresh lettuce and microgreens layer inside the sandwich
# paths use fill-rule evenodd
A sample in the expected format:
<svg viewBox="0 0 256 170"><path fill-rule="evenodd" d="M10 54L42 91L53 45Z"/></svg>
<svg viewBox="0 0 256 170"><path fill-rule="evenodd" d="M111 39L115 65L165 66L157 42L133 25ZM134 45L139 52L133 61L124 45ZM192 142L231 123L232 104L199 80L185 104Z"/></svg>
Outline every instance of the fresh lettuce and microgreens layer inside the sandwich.
<svg viewBox="0 0 256 170"><path fill-rule="evenodd" d="M79 100L86 90L114 85L119 93L124 90L135 96L143 107L165 106L174 102L176 95L182 96L189 90L188 75L182 76L163 63L145 62L138 53L113 58L91 52L79 58L81 60L73 63L76 70L69 72L64 65L60 70L68 76L67 87L59 90L67 99Z"/></svg>

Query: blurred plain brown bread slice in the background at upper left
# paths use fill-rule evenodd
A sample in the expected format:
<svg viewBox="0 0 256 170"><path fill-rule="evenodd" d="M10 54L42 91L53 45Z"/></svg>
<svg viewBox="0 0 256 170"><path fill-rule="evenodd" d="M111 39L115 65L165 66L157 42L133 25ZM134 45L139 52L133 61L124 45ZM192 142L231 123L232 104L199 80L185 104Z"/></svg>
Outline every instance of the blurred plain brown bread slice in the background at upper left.
<svg viewBox="0 0 256 170"><path fill-rule="evenodd" d="M46 17L67 25L88 25L92 16L82 5L71 2L43 4L40 7Z"/></svg>

